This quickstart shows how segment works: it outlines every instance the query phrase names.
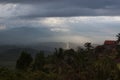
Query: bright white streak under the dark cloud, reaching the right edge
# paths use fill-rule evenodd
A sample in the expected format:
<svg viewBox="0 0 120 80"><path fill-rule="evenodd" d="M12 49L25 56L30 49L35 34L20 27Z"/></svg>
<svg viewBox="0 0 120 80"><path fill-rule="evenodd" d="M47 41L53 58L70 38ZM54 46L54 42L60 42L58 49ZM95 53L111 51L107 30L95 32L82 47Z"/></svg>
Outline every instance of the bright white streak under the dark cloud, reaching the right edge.
<svg viewBox="0 0 120 80"><path fill-rule="evenodd" d="M120 16L86 16L86 17L71 17L67 19L67 21L71 23L79 23L79 22L120 22Z"/></svg>

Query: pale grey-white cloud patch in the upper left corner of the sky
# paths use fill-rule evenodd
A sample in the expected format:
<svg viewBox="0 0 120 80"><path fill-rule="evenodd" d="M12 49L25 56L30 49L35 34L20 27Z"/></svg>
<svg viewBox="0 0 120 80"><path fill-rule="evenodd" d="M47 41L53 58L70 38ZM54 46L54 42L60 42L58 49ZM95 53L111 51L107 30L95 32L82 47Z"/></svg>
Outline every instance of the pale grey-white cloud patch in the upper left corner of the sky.
<svg viewBox="0 0 120 80"><path fill-rule="evenodd" d="M32 10L31 5L24 4L0 4L0 17L2 18L11 18L21 15L29 14Z"/></svg>

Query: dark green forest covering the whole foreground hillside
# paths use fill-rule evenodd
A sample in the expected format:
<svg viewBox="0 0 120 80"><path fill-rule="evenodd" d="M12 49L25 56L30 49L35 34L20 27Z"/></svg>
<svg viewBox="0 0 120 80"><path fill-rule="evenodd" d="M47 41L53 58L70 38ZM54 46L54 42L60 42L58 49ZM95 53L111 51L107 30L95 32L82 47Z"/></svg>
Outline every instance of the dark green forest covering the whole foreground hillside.
<svg viewBox="0 0 120 80"><path fill-rule="evenodd" d="M32 57L22 51L15 69L0 67L0 80L119 80L120 79L120 33L110 44L85 48L55 48L45 55L40 51Z"/></svg>

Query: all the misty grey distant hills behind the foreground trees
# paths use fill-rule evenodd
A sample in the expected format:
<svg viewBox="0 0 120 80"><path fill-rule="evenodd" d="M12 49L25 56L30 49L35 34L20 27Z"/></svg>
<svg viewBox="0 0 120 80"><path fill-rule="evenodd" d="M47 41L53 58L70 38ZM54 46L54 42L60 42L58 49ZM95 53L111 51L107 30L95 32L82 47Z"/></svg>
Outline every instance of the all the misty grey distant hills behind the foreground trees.
<svg viewBox="0 0 120 80"><path fill-rule="evenodd" d="M44 51L47 54L52 54L55 48L65 49L67 43L63 42L44 42L44 43L35 43L29 45L1 45L0 46L0 65L12 66L15 65L16 60L18 59L21 51L27 51L33 57L40 50ZM74 43L69 43L69 48L76 48L78 45Z"/></svg>

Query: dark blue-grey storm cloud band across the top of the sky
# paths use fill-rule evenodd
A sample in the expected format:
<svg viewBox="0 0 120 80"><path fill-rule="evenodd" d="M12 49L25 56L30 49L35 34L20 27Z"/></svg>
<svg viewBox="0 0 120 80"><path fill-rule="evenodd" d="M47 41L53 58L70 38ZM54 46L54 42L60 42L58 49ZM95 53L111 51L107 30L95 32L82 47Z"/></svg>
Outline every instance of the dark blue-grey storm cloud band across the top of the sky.
<svg viewBox="0 0 120 80"><path fill-rule="evenodd" d="M120 0L0 0L0 3L31 5L31 12L18 15L20 18L120 15Z"/></svg>

